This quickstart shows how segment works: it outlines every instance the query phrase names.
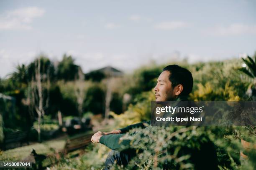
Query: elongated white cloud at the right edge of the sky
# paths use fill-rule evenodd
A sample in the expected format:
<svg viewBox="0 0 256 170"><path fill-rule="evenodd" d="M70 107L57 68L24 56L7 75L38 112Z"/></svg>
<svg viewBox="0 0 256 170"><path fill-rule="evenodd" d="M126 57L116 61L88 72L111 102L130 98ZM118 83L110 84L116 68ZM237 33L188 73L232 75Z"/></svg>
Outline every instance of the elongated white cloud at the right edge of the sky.
<svg viewBox="0 0 256 170"><path fill-rule="evenodd" d="M231 24L229 26L215 26L207 30L210 35L241 35L256 34L256 25Z"/></svg>

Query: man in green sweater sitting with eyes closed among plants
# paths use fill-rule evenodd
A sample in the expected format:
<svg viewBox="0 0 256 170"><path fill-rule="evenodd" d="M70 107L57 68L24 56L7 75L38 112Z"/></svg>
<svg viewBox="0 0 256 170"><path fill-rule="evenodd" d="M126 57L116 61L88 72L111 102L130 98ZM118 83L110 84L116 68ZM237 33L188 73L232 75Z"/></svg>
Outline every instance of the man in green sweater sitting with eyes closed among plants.
<svg viewBox="0 0 256 170"><path fill-rule="evenodd" d="M187 100L192 87L193 77L189 70L179 65L168 65L159 75L156 86L154 87L156 101ZM109 165L113 165L115 162L119 165L127 165L131 158L136 155L133 150L118 151L121 145L129 145L130 142L128 140L122 140L120 143L120 138L133 128L146 128L144 123L129 125L120 130L113 130L107 133L99 131L92 136L93 143L101 143L113 150L106 159L105 169L110 168ZM150 125L150 121L146 123Z"/></svg>

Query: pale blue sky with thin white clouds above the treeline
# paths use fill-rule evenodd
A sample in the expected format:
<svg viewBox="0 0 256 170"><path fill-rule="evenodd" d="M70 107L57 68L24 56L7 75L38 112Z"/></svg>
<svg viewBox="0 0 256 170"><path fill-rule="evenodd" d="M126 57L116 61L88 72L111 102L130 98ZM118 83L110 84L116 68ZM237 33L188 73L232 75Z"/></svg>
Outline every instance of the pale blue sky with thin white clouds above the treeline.
<svg viewBox="0 0 256 170"><path fill-rule="evenodd" d="M0 77L38 54L84 72L256 51L255 0L1 0Z"/></svg>

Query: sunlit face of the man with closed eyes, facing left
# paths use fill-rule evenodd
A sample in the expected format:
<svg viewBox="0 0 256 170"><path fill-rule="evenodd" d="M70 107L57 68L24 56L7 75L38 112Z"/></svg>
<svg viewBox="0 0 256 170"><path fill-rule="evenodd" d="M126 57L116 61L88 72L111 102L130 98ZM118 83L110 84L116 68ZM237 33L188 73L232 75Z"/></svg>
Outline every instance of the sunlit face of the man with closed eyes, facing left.
<svg viewBox="0 0 256 170"><path fill-rule="evenodd" d="M169 80L169 71L163 71L158 79L155 90L156 101L168 101L175 98L172 82Z"/></svg>

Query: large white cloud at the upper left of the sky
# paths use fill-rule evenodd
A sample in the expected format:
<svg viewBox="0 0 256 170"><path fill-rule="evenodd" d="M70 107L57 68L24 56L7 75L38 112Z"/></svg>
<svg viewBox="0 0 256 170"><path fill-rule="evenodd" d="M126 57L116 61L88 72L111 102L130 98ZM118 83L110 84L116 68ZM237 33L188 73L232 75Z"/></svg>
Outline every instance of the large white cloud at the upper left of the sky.
<svg viewBox="0 0 256 170"><path fill-rule="evenodd" d="M34 18L42 17L44 9L25 7L10 10L0 15L0 30L31 30Z"/></svg>

